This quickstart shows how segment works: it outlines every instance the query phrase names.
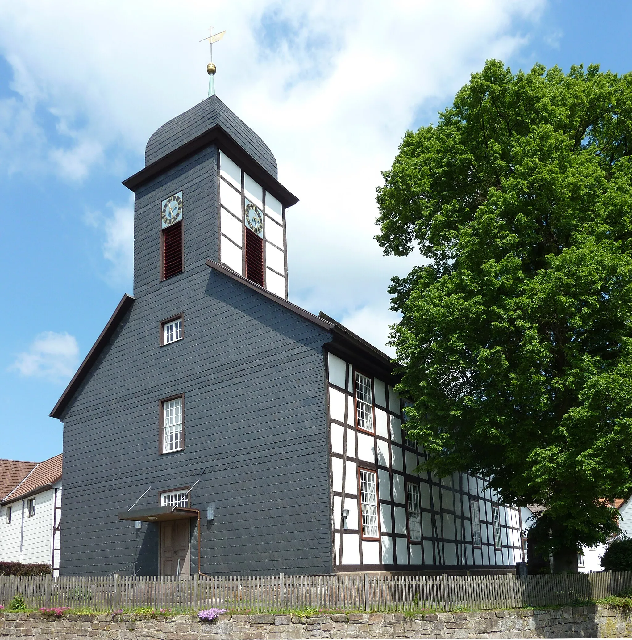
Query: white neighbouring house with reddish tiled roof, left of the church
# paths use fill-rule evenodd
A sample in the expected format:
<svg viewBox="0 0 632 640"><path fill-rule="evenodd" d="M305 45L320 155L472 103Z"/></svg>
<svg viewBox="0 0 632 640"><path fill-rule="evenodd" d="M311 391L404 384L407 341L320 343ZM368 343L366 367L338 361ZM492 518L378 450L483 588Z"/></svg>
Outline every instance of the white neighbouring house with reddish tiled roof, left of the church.
<svg viewBox="0 0 632 640"><path fill-rule="evenodd" d="M61 454L0 460L0 560L50 564L59 575Z"/></svg>

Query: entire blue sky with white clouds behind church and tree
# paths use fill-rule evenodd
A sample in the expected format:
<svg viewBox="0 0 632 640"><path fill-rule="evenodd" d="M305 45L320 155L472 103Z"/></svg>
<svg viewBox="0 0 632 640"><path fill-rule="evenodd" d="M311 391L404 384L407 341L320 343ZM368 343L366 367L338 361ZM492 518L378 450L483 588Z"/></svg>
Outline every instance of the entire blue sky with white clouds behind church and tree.
<svg viewBox="0 0 632 640"><path fill-rule="evenodd" d="M13 5L0 2L0 458L19 460L61 451L48 413L132 292L120 183L151 132L205 97L198 39L211 21L228 29L219 97L301 198L288 214L290 299L379 347L396 319L388 278L415 260L383 259L372 241L379 171L403 132L436 120L489 57L632 70L623 1Z"/></svg>

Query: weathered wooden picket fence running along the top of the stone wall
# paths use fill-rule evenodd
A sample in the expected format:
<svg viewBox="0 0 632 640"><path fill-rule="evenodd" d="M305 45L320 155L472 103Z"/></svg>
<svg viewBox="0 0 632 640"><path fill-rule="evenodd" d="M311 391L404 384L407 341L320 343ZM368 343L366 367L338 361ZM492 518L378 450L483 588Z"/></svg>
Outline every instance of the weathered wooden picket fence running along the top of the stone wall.
<svg viewBox="0 0 632 640"><path fill-rule="evenodd" d="M415 611L511 609L597 600L632 588L632 572L575 575L341 575L0 577L0 604L31 609L154 609L270 612L288 609Z"/></svg>

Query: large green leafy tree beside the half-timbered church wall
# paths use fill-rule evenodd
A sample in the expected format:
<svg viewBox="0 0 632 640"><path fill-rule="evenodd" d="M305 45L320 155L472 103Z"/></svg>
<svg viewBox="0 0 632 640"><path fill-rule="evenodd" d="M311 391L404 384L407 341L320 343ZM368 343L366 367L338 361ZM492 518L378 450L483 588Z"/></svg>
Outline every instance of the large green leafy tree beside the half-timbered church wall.
<svg viewBox="0 0 632 640"><path fill-rule="evenodd" d="M545 506L556 571L632 490L631 156L632 74L491 60L377 194L384 253L425 259L390 287L410 436Z"/></svg>

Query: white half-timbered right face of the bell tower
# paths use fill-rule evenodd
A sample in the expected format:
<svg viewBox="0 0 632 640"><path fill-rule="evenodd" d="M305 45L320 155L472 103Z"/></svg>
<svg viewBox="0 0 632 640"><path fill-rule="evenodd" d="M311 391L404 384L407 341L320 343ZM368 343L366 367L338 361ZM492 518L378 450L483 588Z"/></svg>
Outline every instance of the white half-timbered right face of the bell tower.
<svg viewBox="0 0 632 640"><path fill-rule="evenodd" d="M220 261L244 277L245 198L264 212L264 288L287 300L287 250L283 205L220 151Z"/></svg>

